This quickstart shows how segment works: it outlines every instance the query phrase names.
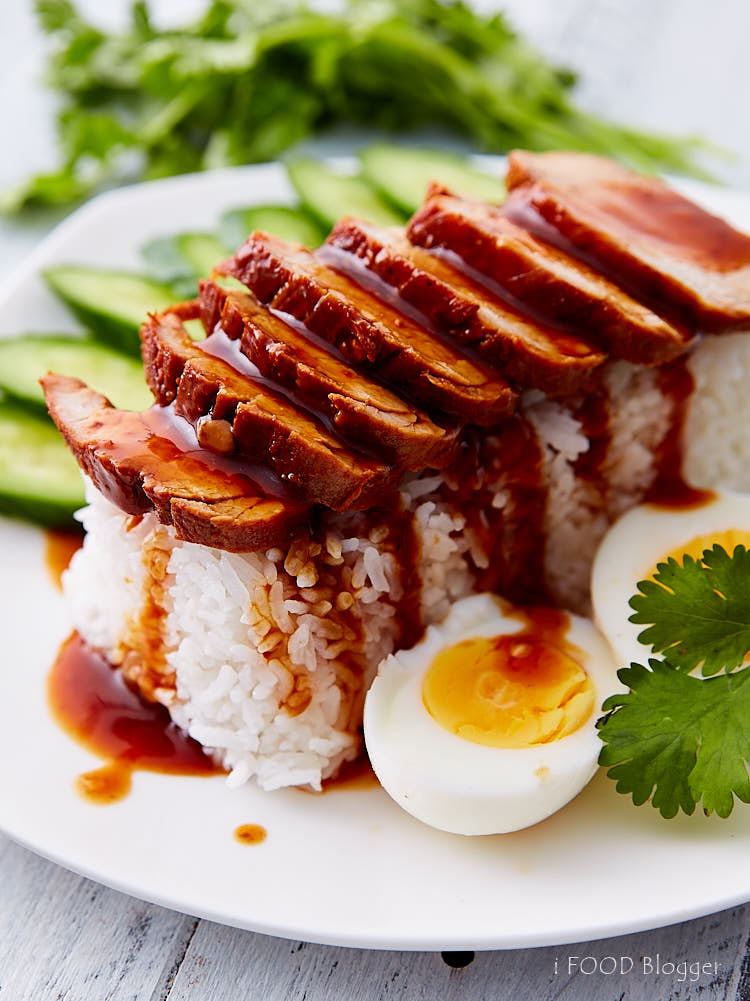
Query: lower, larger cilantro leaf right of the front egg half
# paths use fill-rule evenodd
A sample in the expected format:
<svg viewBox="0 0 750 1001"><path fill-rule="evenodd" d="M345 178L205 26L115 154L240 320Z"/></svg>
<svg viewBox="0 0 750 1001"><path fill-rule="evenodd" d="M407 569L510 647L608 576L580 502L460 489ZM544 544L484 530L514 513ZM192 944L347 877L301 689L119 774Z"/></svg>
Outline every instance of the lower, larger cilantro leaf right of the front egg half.
<svg viewBox="0 0 750 1001"><path fill-rule="evenodd" d="M636 806L650 798L663 817L728 817L736 796L750 803L750 669L702 680L665 661L619 672L629 693L604 704L599 763Z"/></svg>

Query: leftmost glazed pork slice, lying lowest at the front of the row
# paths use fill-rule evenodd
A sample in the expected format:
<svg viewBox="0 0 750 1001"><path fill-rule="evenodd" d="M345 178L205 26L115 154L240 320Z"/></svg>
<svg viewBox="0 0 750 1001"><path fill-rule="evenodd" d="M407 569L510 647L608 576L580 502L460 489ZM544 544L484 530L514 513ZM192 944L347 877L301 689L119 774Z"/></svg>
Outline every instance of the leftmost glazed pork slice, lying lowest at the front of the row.
<svg viewBox="0 0 750 1001"><path fill-rule="evenodd" d="M278 546L303 523L309 506L274 495L236 463L183 439L179 418L159 407L115 409L80 379L45 375L52 419L97 489L129 515L155 512L178 539L233 553ZM185 421L181 421L189 427ZM262 475L262 471L260 473Z"/></svg>

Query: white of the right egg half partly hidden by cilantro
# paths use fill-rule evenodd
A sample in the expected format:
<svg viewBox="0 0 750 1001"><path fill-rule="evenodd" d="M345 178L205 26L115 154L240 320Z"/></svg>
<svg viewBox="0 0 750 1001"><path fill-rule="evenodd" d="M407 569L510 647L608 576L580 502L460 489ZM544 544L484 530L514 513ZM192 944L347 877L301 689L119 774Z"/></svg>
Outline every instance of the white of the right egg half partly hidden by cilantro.
<svg viewBox="0 0 750 1001"><path fill-rule="evenodd" d="M638 642L646 626L628 622L636 585L667 554L698 536L737 529L750 532L750 495L716 491L714 499L684 510L644 504L623 515L602 540L594 560L591 598L594 618L620 667L648 664L651 648Z"/></svg>

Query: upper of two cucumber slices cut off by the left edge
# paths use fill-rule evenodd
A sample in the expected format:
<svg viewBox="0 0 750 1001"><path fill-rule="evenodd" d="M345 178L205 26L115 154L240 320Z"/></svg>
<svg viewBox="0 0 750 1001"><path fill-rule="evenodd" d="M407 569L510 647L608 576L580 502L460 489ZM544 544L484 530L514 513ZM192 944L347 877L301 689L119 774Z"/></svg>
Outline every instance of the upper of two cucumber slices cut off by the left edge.
<svg viewBox="0 0 750 1001"><path fill-rule="evenodd" d="M125 410L153 402L143 366L95 340L63 334L27 334L0 340L0 389L45 412L39 377L45 372L77 375Z"/></svg>

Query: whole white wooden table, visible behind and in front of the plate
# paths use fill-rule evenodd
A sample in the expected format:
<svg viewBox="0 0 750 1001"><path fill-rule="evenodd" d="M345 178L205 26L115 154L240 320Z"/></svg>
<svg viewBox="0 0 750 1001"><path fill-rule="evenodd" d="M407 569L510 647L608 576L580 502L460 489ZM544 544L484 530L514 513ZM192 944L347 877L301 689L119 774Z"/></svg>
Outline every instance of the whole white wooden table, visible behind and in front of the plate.
<svg viewBox="0 0 750 1001"><path fill-rule="evenodd" d="M106 6L112 17L124 4L85 6ZM160 6L194 9L196 0ZM740 154L725 177L750 186L747 0L505 6L540 45L582 71L581 99L590 107L702 132ZM29 11L29 0L3 3L0 183L53 155L51 103L36 83L42 48ZM52 221L1 222L0 266L12 266ZM468 965L452 967L440 954L359 952L223 928L97 886L0 836L0 1001L744 1001L750 905L585 945L448 959Z"/></svg>

